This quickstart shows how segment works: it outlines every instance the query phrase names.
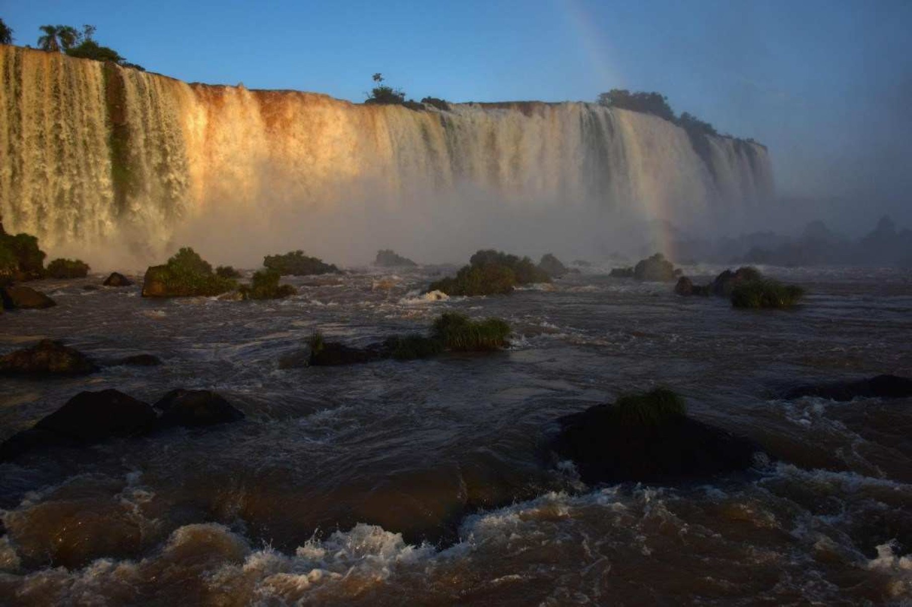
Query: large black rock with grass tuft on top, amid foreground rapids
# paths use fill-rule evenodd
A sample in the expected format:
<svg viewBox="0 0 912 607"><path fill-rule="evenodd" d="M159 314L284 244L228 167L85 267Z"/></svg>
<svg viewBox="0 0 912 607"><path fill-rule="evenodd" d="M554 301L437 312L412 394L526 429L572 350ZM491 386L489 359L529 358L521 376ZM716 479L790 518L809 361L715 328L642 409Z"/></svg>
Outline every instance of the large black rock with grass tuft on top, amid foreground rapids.
<svg viewBox="0 0 912 607"><path fill-rule="evenodd" d="M589 484L668 481L750 468L751 440L687 417L683 399L659 388L558 419L552 447Z"/></svg>

